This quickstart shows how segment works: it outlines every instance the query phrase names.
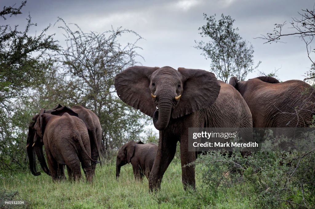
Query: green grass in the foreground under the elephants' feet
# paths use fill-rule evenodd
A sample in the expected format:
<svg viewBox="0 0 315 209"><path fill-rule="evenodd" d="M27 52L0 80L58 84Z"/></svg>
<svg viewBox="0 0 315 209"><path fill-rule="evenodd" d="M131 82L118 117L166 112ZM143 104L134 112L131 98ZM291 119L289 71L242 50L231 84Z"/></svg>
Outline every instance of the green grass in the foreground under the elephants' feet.
<svg viewBox="0 0 315 209"><path fill-rule="evenodd" d="M135 181L130 164L122 167L119 181L115 172L115 163L98 165L93 184L85 179L54 183L43 172L40 176L19 173L0 176L0 188L7 194L17 191L27 202L27 208L249 208L251 205L250 191L245 186L231 188L215 197L202 193L198 189L201 182L198 175L197 190L185 191L178 161L170 164L161 190L156 193L149 192L146 178L143 182Z"/></svg>

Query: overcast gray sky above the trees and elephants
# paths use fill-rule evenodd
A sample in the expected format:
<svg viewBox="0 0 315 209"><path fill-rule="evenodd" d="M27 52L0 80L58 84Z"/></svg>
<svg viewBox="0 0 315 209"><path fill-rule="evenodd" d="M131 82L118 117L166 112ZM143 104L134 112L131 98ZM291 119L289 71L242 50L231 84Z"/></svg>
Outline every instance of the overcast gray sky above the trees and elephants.
<svg viewBox="0 0 315 209"><path fill-rule="evenodd" d="M21 1L15 3L19 6ZM0 6L13 4L12 0L2 0ZM253 38L272 32L275 23L289 22L292 17L300 18L298 12L301 9L313 9L313 6L314 0L28 0L22 9L23 15L9 18L6 24L25 25L26 16L30 13L32 21L37 23L37 33L54 24L57 17L63 18L67 24L78 24L86 32L104 32L111 29L111 25L114 29L122 26L145 39L138 44L143 48L139 53L145 61L139 61L144 66L209 71L210 60L193 47L194 40L201 40L198 28L206 23L203 13L208 16L216 13L217 19L223 13L235 19L234 27L238 27L240 36L254 46L255 64L261 61L259 70L269 73L281 68L278 78L286 81L303 79L311 66L304 42L289 37L283 39L286 44L263 44L264 40ZM58 24L52 26L49 33L56 33L57 40L64 39ZM249 74L247 79L257 77L257 73Z"/></svg>

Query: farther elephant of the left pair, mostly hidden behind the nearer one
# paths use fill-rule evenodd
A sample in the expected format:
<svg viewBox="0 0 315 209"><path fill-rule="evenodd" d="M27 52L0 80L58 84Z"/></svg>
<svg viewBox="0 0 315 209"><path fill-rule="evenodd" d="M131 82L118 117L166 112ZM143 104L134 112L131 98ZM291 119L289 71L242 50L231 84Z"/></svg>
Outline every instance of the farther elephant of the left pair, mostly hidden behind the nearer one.
<svg viewBox="0 0 315 209"><path fill-rule="evenodd" d="M102 141L102 130L100 126L100 121L91 110L88 110L80 105L75 105L71 109L66 106L61 106L60 104L56 107L54 107L52 110L46 110L45 113L50 113L53 115L63 115L65 112L67 112L70 115L79 117L88 128L89 132L89 140L90 140L90 146L91 146L91 158L94 161L97 161L97 158L100 159L99 155L99 147L101 145ZM45 158L43 155L43 139L38 137L36 135L36 138L34 139L35 129L34 125L37 120L38 114L34 115L32 118L32 122L29 124L29 131L27 136L27 153L29 156L29 162L30 162L30 170L31 173L35 176L40 175L40 172L36 171L36 163L35 163L35 157L34 157L34 151L36 152L37 158L41 164L42 169L46 174L49 174L49 168L47 167L47 164L45 162ZM32 144L32 146L30 146ZM96 164L92 164L92 174L95 174L95 167Z"/></svg>

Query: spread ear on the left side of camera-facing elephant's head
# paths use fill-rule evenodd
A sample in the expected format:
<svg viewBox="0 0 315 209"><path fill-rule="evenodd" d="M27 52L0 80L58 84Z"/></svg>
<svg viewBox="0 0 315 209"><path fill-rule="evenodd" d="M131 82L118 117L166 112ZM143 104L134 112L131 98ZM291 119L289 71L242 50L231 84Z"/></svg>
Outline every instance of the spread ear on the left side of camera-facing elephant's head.
<svg viewBox="0 0 315 209"><path fill-rule="evenodd" d="M153 117L156 106L151 97L150 75L159 67L129 67L115 78L118 97L126 104Z"/></svg>

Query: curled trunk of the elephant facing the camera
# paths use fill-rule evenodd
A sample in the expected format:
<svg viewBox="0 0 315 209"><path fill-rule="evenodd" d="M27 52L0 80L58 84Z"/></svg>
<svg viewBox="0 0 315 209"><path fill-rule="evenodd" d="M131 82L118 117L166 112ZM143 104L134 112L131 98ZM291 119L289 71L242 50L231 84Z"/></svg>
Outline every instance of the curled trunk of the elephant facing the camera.
<svg viewBox="0 0 315 209"><path fill-rule="evenodd" d="M172 111L172 98L163 99L158 104L158 109L153 114L153 125L154 127L162 131L169 125L169 119Z"/></svg>

